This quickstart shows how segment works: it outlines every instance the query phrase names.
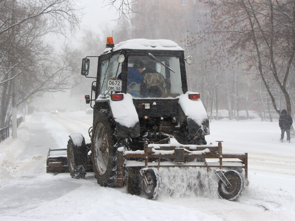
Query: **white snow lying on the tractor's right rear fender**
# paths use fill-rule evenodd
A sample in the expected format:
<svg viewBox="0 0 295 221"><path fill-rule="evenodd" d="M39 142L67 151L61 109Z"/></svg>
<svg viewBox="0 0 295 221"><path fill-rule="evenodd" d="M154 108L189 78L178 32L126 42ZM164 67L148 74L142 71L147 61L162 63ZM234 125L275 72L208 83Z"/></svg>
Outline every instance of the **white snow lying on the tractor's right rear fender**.
<svg viewBox="0 0 295 221"><path fill-rule="evenodd" d="M196 94L187 91L185 94L179 96L179 105L182 108L187 118L194 120L197 124L201 125L202 122L208 117L207 112L200 99L191 100L188 98L189 94Z"/></svg>

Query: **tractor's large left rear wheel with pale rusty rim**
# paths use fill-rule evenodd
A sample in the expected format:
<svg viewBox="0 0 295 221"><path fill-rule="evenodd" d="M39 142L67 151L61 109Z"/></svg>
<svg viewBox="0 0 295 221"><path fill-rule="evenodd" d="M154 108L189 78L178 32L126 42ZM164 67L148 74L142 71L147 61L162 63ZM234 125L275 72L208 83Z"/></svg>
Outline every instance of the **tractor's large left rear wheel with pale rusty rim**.
<svg viewBox="0 0 295 221"><path fill-rule="evenodd" d="M112 115L98 113L93 124L91 155L97 183L104 187L117 186L117 141Z"/></svg>

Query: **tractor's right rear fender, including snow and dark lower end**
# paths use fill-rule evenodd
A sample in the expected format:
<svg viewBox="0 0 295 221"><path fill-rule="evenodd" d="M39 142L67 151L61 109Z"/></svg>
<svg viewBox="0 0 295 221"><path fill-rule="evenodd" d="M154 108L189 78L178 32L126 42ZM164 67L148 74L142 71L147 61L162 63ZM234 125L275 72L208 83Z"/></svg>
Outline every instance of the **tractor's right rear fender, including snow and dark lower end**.
<svg viewBox="0 0 295 221"><path fill-rule="evenodd" d="M200 99L191 100L188 98L189 94L198 94L187 91L185 94L179 96L179 106L185 115L184 121L187 121L190 135L196 135L198 132L204 135L210 134L209 119L207 112ZM202 130L202 131L201 131Z"/></svg>

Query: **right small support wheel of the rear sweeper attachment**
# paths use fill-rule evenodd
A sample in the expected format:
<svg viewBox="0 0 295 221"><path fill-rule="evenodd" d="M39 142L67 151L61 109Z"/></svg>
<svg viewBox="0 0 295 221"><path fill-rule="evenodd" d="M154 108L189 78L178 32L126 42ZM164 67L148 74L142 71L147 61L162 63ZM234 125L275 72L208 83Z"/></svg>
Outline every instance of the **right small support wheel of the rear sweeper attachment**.
<svg viewBox="0 0 295 221"><path fill-rule="evenodd" d="M231 186L226 185L219 180L218 181L218 195L225 200L237 200L242 196L245 189L245 180L241 174L235 170L229 170L224 173Z"/></svg>

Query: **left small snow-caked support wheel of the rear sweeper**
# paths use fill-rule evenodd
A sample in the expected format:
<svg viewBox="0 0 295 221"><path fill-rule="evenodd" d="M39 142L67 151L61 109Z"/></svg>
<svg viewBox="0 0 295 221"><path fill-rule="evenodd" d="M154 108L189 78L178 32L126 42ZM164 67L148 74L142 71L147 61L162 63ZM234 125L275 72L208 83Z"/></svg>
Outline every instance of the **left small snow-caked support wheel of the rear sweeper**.
<svg viewBox="0 0 295 221"><path fill-rule="evenodd" d="M144 170L144 175L147 177L148 186L145 185L144 179L142 180L142 189L145 196L150 200L156 200L162 189L162 179L159 170L155 168L148 168Z"/></svg>

